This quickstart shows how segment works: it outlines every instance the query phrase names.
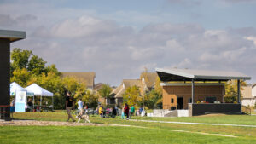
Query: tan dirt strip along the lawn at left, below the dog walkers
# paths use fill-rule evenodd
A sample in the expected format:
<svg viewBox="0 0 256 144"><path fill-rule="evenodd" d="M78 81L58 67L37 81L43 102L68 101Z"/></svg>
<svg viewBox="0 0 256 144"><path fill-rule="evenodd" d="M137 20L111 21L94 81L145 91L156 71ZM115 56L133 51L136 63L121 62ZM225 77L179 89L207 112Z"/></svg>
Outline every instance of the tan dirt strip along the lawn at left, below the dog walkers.
<svg viewBox="0 0 256 144"><path fill-rule="evenodd" d="M13 121L0 121L0 126L6 125L38 125L38 126L102 126L103 124L92 123L76 123L76 122L55 122L55 121L36 121L36 120L13 120Z"/></svg>

